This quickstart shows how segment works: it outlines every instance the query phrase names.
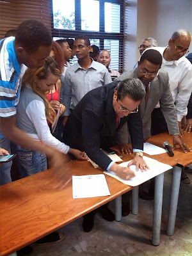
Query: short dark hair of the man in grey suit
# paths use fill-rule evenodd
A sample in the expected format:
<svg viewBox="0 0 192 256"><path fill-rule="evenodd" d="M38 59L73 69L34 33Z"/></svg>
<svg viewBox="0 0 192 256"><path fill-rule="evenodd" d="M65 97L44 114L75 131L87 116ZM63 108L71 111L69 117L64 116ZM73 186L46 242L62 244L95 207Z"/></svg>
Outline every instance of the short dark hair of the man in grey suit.
<svg viewBox="0 0 192 256"><path fill-rule="evenodd" d="M161 67L163 58L159 51L157 51L155 49L147 49L141 55L140 63L145 60L148 60L148 61L152 62L153 64L160 65L160 67Z"/></svg>

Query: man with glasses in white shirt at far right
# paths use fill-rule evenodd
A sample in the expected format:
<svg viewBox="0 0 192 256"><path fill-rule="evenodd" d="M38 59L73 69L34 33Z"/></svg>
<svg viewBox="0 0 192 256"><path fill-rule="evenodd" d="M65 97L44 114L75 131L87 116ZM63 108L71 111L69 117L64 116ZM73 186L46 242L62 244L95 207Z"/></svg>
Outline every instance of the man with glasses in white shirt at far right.
<svg viewBox="0 0 192 256"><path fill-rule="evenodd" d="M192 66L184 54L189 52L191 35L186 29L175 31L166 47L155 47L163 56L161 70L166 70L170 77L170 90L177 109L180 136L183 136L181 120L188 113L188 102L192 90ZM150 48L151 49L151 48ZM147 50L146 50L147 51ZM170 116L170 118L172 118ZM152 112L152 135L167 131L163 113L157 104ZM182 182L190 183L182 172Z"/></svg>

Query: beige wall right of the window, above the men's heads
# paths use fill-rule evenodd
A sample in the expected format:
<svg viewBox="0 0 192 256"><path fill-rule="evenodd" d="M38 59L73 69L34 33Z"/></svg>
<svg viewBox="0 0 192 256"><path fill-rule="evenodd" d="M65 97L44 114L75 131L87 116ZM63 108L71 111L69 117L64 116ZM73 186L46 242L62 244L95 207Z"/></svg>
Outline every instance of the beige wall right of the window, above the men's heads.
<svg viewBox="0 0 192 256"><path fill-rule="evenodd" d="M136 40L129 48L134 54L128 54L129 63L125 65L125 70L131 70L140 52L138 46L145 37L153 37L159 46L166 46L172 33L180 28L187 29L192 35L192 1L191 0L134 0L128 1L137 4L137 15L132 8L132 20L137 20ZM134 25L135 26L135 25ZM127 36L129 37L129 36ZM132 36L130 35L130 38ZM189 48L192 51L192 44Z"/></svg>

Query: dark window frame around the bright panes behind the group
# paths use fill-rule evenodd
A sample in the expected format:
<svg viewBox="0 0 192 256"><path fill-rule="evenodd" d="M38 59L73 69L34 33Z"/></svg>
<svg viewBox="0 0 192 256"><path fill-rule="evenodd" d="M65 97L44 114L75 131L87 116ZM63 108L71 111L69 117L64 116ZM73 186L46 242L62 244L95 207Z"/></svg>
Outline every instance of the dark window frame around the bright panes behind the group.
<svg viewBox="0 0 192 256"><path fill-rule="evenodd" d="M52 1L50 0L51 6L51 31L52 37L59 38L74 38L78 35L86 35L88 38L99 39L100 40L100 51L104 49L104 39L108 40L119 40L119 71L123 70L124 63L124 0L99 0L99 31L87 31L81 30L81 1L75 0L75 27L76 29L58 29L54 28L53 22L53 10L52 10ZM120 4L120 33L109 33L105 32L105 13L104 13L104 4L112 3L112 4Z"/></svg>

